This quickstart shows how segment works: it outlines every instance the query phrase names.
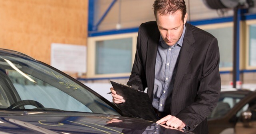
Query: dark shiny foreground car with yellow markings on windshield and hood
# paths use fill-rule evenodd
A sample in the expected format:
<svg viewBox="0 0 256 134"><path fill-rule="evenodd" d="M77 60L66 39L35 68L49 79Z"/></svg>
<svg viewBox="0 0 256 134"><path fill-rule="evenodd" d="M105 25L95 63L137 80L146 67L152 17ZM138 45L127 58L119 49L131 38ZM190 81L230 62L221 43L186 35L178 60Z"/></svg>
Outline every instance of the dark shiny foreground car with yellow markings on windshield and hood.
<svg viewBox="0 0 256 134"><path fill-rule="evenodd" d="M0 49L0 134L128 133L192 134L124 117L113 103L67 74Z"/></svg>

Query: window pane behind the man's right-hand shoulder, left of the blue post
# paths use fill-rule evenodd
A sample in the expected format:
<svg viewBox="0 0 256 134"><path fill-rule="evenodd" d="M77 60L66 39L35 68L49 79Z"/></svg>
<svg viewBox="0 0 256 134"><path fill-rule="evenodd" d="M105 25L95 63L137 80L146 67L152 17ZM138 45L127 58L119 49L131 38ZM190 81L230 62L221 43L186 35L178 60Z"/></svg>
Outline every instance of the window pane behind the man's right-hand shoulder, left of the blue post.
<svg viewBox="0 0 256 134"><path fill-rule="evenodd" d="M205 29L218 39L220 68L233 66L233 27Z"/></svg>

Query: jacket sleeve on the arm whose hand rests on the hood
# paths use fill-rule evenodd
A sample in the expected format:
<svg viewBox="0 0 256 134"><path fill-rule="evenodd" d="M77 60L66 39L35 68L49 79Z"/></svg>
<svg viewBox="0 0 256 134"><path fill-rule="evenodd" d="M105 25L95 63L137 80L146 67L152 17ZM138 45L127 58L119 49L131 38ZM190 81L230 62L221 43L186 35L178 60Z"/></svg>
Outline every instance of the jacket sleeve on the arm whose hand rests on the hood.
<svg viewBox="0 0 256 134"><path fill-rule="evenodd" d="M218 42L216 38L212 38L206 51L195 100L176 115L190 126L191 131L206 119L218 102L220 93L219 61Z"/></svg>

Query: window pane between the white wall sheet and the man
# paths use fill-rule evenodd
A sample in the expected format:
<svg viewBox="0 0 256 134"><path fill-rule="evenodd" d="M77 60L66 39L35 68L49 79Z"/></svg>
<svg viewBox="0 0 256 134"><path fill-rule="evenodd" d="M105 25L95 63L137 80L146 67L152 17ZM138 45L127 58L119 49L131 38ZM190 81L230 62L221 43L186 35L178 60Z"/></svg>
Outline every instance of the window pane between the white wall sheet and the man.
<svg viewBox="0 0 256 134"><path fill-rule="evenodd" d="M96 41L95 74L130 73L133 38Z"/></svg>

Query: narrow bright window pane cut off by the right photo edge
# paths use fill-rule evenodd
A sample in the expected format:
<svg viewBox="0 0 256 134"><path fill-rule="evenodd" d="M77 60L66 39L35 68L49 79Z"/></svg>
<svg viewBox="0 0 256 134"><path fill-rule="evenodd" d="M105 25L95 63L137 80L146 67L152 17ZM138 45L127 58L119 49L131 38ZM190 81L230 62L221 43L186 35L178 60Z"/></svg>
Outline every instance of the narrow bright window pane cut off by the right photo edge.
<svg viewBox="0 0 256 134"><path fill-rule="evenodd" d="M249 31L249 66L256 66L256 25L250 25Z"/></svg>

